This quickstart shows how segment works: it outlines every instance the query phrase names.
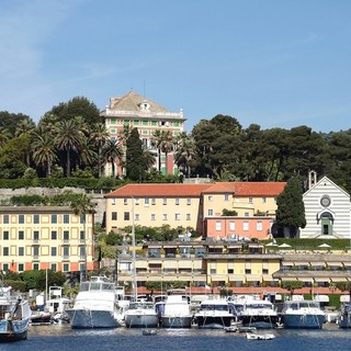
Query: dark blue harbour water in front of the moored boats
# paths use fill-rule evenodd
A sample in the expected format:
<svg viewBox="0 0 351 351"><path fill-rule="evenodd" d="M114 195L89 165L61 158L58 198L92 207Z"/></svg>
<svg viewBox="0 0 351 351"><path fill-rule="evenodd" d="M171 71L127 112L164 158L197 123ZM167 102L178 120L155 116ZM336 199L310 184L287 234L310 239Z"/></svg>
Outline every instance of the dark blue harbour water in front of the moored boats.
<svg viewBox="0 0 351 351"><path fill-rule="evenodd" d="M0 351L330 351L351 350L351 329L325 325L321 330L273 330L272 340L247 340L220 329L71 329L69 325L31 326L29 339L0 343Z"/></svg>

